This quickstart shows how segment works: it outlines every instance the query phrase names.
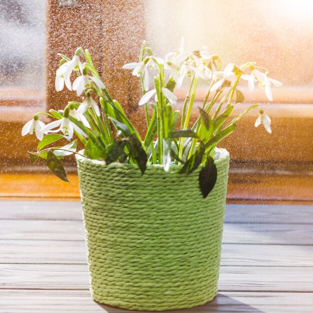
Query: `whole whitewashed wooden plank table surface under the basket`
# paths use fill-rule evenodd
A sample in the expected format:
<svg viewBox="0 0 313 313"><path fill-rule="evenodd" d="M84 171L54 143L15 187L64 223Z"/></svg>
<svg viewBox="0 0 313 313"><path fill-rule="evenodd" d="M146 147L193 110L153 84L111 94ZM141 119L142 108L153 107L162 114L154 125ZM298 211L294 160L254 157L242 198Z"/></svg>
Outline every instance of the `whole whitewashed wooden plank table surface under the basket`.
<svg viewBox="0 0 313 313"><path fill-rule="evenodd" d="M225 215L217 297L173 312L313 312L313 206ZM0 202L0 312L131 312L89 295L79 202Z"/></svg>

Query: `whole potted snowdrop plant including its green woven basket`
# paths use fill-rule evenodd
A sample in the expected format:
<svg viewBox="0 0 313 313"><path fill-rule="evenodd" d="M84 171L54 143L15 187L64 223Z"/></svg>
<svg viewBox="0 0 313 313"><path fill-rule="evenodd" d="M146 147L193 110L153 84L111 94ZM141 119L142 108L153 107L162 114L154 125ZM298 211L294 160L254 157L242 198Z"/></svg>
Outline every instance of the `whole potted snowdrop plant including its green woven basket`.
<svg viewBox="0 0 313 313"><path fill-rule="evenodd" d="M229 63L204 46L156 57L142 43L138 62L125 64L142 86L147 130L140 136L121 105L112 99L88 50L63 54L55 88L64 84L81 96L64 110L38 112L22 135L35 132L38 158L67 181L61 163L75 153L87 245L90 290L94 300L136 310L167 310L204 304L217 292L229 154L216 145L258 104L230 117L242 102L241 79L252 91L258 82L271 100L265 68L254 62ZM85 61L81 63L81 58ZM71 74L77 77L71 82ZM149 75L153 75L153 86ZM182 109L174 110L174 90L189 80ZM207 94L190 126L197 83ZM96 101L95 98L99 100ZM48 124L40 114L54 118ZM270 119L259 110L255 126L268 132ZM57 134L56 132L62 134ZM73 135L76 138L72 140ZM51 146L61 138L69 143ZM76 151L77 140L83 150ZM47 147L49 145L49 147Z"/></svg>

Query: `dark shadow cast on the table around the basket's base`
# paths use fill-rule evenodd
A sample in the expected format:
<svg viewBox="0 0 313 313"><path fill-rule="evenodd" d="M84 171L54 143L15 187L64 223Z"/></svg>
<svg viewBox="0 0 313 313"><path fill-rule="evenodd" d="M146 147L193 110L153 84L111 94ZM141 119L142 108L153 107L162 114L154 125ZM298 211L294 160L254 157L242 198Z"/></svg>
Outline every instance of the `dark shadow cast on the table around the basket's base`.
<svg viewBox="0 0 313 313"><path fill-rule="evenodd" d="M131 313L131 312L139 312L139 311L133 311L133 310L127 310L122 309L118 307L113 307L105 304L101 304L95 301L100 307L103 308L103 313ZM140 311L141 313L151 313L148 311ZM243 302L240 302L230 296L226 296L221 293L217 293L217 296L210 302L204 304L195 306L192 308L184 308L184 309L176 309L176 310L170 310L170 311L163 311L164 313L187 313L187 312L196 312L196 313L264 313L263 311L250 306L248 304L245 304Z"/></svg>

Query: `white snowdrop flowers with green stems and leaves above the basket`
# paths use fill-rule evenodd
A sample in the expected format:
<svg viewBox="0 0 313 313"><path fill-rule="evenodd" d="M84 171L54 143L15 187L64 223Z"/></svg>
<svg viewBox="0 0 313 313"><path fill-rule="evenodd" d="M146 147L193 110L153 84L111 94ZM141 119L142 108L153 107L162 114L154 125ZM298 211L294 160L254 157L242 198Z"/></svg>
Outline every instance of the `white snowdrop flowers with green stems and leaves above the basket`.
<svg viewBox="0 0 313 313"><path fill-rule="evenodd" d="M237 89L240 79L247 80L248 90L255 83L265 90L272 100L271 86L281 83L268 76L266 68L247 62L240 66L233 63L221 69L220 57L210 54L206 46L202 50L185 51L183 38L176 52L167 53L164 59L155 56L151 48L142 43L138 62L128 63L124 69L132 69L142 87L138 105L144 105L147 130L141 137L127 118L122 106L112 99L95 69L88 50L81 47L69 57L61 57L56 70L55 88L69 90L81 96L81 102L69 101L63 110L50 109L37 112L22 128L22 135L35 132L40 140L37 152L28 152L31 163L46 160L47 166L59 178L67 181L61 159L72 153L91 159L136 164L143 174L147 163L158 164L168 171L171 164L176 170L188 174L199 170L199 186L203 196L213 188L217 172L213 160L216 145L230 133L235 123L247 112L258 107L254 104L240 114L230 114L236 103L244 96ZM84 57L84 62L82 62ZM76 78L72 80L72 73ZM153 76L153 83L149 77ZM175 89L188 81L181 110L174 110L177 97ZM190 115L198 81L202 80L207 93L202 104L197 106L198 117L190 127ZM56 120L44 124L39 114ZM263 124L270 133L270 118L260 109L255 126ZM56 133L61 132L62 134ZM75 134L76 139L72 140ZM51 146L61 138L69 143ZM83 144L83 152L77 152L77 139ZM71 141L72 140L72 141ZM49 146L49 147L46 147ZM172 168L172 167L171 167Z"/></svg>

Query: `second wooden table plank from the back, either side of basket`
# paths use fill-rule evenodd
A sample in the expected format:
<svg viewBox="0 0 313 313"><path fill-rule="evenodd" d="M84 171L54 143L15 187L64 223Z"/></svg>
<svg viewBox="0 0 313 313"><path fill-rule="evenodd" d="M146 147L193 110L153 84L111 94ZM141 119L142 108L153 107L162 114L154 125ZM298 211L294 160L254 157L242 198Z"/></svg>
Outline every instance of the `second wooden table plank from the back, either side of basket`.
<svg viewBox="0 0 313 313"><path fill-rule="evenodd" d="M0 220L0 239L84 240L80 220ZM224 224L224 243L313 244L310 224Z"/></svg>

